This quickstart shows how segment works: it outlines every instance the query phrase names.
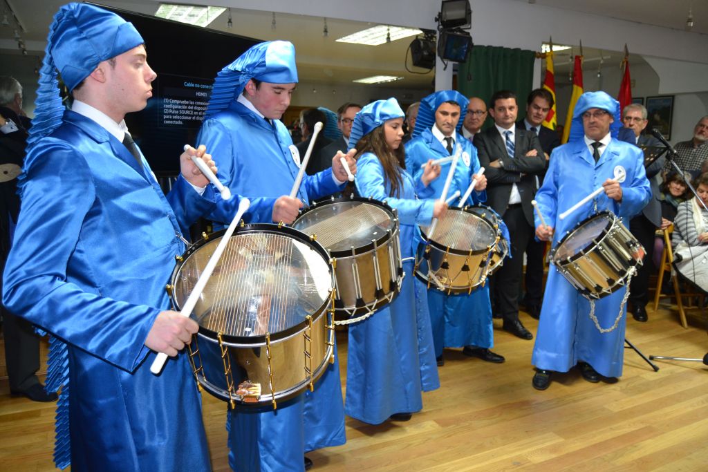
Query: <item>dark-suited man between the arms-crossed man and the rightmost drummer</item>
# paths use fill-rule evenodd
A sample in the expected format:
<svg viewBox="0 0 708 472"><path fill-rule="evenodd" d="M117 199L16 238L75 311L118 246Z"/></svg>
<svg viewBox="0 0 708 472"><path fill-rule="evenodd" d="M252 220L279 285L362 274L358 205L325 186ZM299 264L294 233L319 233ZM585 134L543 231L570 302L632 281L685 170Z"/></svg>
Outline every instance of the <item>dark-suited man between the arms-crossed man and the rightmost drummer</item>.
<svg viewBox="0 0 708 472"><path fill-rule="evenodd" d="M535 132L546 158L544 171L535 175L535 190L543 183L543 178L548 168L551 151L561 145L561 139L553 129L544 127L549 110L553 108L553 96L544 88L537 88L529 93L526 99L526 117L516 122L518 129L527 129ZM526 295L524 304L529 315L538 318L541 314L541 301L543 300L543 253L546 248L545 241L536 241L531 238L526 247Z"/></svg>

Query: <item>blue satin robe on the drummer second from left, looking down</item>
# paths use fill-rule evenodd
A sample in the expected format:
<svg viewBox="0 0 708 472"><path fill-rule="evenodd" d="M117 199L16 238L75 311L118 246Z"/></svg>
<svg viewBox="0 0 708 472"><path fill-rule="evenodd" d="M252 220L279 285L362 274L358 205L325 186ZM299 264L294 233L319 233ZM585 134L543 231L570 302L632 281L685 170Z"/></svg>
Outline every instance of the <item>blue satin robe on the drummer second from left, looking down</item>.
<svg viewBox="0 0 708 472"><path fill-rule="evenodd" d="M236 101L202 124L199 144L217 161L219 180L240 195L260 195L275 201L290 195L299 166L290 150L292 139L280 120L274 127ZM295 146L292 146L295 148ZM304 175L297 197L338 192L331 169ZM272 222L267 205L246 214L246 221ZM210 219L229 224L233 204L219 202ZM336 350L335 350L336 352ZM346 442L344 410L336 359L314 386L278 409L238 408L229 412L229 464L239 472L302 471L303 453Z"/></svg>

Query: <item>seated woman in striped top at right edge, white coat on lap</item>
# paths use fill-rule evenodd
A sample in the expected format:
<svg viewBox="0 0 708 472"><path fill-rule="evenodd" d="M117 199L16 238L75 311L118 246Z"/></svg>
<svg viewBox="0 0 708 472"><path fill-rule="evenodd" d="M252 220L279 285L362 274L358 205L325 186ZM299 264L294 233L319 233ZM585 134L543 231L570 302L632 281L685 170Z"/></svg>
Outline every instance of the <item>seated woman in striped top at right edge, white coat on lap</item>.
<svg viewBox="0 0 708 472"><path fill-rule="evenodd" d="M708 292L708 173L693 183L696 197L678 205L673 221L675 270L704 292Z"/></svg>

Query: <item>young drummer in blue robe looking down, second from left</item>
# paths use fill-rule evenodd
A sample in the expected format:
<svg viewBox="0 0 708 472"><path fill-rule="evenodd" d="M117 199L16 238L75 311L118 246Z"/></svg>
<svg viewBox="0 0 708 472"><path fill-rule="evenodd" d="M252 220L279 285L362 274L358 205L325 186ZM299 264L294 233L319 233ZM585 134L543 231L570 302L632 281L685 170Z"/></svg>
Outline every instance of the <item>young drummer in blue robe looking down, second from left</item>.
<svg viewBox="0 0 708 472"><path fill-rule="evenodd" d="M292 209L282 218L285 223L295 220L298 207L341 191L347 181L338 155L332 159L332 168L304 175L296 197L288 196L301 157L280 117L290 105L295 86L295 47L290 42L261 42L251 47L217 75L198 138L219 156L219 180L224 186L241 195L274 202L278 198ZM346 159L355 173L351 156L353 152ZM218 202L210 219L228 224L233 205ZM273 221L267 209L249 212L245 219ZM229 464L235 471L301 471L303 464L312 464L309 459L303 463L304 452L346 442L338 362L329 365L314 392L278 403L276 410L237 405L236 410L229 410L227 424Z"/></svg>

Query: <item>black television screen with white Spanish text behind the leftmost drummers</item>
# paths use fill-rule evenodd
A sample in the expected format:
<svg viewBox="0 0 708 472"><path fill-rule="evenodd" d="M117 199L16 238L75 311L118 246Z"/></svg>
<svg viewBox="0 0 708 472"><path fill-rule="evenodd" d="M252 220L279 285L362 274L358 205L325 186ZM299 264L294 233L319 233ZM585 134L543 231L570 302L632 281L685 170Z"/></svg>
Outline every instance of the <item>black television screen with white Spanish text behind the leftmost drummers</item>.
<svg viewBox="0 0 708 472"><path fill-rule="evenodd" d="M154 173L177 175L183 146L199 144L195 139L217 72L261 41L100 6L130 21L145 40L147 61L157 74L153 96L125 122Z"/></svg>

